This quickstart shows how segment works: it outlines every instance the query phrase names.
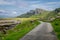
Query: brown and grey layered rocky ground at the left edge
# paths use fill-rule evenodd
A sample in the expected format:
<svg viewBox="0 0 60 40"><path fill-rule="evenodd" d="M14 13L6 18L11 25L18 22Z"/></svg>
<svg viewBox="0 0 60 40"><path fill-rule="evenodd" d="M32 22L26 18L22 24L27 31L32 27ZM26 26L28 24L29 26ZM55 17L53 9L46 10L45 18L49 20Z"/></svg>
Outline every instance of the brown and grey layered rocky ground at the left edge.
<svg viewBox="0 0 60 40"><path fill-rule="evenodd" d="M20 21L15 20L0 20L0 31L6 34L6 30L9 30L19 24Z"/></svg>

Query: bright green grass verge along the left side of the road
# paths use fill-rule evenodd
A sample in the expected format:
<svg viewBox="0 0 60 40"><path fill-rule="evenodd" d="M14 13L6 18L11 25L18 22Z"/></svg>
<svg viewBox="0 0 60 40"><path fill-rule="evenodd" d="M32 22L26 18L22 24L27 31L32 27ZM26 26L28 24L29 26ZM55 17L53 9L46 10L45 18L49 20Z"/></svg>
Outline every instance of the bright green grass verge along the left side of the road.
<svg viewBox="0 0 60 40"><path fill-rule="evenodd" d="M33 23L30 21L25 21L21 24L18 24L15 28L7 31L7 34L4 36L3 40L19 40L26 33L35 28L38 24L38 21L34 21Z"/></svg>

